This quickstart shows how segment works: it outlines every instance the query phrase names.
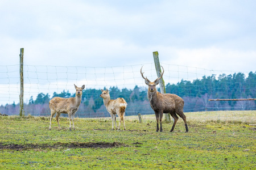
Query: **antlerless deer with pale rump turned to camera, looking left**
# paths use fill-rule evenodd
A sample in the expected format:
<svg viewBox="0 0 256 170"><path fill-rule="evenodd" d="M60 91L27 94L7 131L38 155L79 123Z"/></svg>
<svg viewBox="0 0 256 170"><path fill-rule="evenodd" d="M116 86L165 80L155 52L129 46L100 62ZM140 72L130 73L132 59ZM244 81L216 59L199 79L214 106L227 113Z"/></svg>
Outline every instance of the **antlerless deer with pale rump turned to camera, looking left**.
<svg viewBox="0 0 256 170"><path fill-rule="evenodd" d="M115 129L117 129L117 115L120 118L118 130L120 129L121 121L123 122L123 128L125 128L125 109L127 107L127 103L125 99L119 97L115 100L110 100L109 90L102 90L102 94L100 97L103 98L104 105L109 112L111 118L112 118L112 130L114 129L114 122L115 122Z"/></svg>

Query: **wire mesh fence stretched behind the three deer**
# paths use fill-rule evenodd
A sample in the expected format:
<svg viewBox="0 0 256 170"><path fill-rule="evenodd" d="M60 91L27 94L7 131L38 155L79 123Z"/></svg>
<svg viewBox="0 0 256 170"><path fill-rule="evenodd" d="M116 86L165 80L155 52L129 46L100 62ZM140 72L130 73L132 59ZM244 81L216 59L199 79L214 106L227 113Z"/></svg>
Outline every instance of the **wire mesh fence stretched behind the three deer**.
<svg viewBox="0 0 256 170"><path fill-rule="evenodd" d="M184 112L255 110L255 100L209 101L209 99L255 98L256 72L207 70L198 67L161 63L166 92L179 95L185 101ZM49 116L48 102L52 97L74 97L73 84L85 90L77 112L78 117L107 117L109 113L100 97L108 88L111 99L123 97L127 101L126 115L153 114L147 85L141 77L157 78L154 63L130 66L77 67L24 65L25 115ZM0 112L19 113L19 65L0 66Z"/></svg>

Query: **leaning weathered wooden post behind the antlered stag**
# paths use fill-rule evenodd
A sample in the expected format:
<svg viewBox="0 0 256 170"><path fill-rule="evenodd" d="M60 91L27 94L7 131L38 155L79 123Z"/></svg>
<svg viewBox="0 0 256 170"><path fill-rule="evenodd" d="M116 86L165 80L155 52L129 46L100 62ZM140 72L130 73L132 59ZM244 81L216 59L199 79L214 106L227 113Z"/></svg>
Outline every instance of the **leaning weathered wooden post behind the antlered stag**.
<svg viewBox="0 0 256 170"><path fill-rule="evenodd" d="M159 62L159 57L158 57L158 52L153 52L153 57L154 57L154 62L155 62L155 70L156 70L156 75L158 77L161 76L161 67L160 67L160 62ZM166 93L166 87L164 86L164 80L163 78L160 79L160 92L162 94L165 94ZM170 119L170 114L169 113L164 113L165 117L166 117L166 122L171 122L171 119Z"/></svg>

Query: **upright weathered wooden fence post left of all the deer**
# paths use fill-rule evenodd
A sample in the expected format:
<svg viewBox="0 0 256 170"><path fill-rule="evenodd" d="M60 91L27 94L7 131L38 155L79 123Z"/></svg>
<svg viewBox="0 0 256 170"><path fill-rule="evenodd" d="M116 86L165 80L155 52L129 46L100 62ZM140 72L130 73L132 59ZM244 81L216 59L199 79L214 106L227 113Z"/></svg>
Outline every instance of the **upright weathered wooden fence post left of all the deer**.
<svg viewBox="0 0 256 170"><path fill-rule="evenodd" d="M23 95L24 95L23 54L24 54L24 48L20 48L20 54L19 54L19 74L20 74L19 116L24 116L24 108L23 108Z"/></svg>

